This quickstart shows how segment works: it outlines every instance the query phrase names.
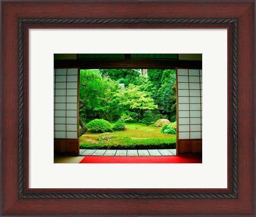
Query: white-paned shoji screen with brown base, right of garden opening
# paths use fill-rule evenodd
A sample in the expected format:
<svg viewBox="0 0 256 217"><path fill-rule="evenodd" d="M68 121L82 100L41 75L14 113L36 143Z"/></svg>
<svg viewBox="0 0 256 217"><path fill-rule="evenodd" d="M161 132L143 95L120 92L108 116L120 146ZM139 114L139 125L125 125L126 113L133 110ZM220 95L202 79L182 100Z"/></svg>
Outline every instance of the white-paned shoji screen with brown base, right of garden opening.
<svg viewBox="0 0 256 217"><path fill-rule="evenodd" d="M177 69L179 153L202 152L202 70Z"/></svg>

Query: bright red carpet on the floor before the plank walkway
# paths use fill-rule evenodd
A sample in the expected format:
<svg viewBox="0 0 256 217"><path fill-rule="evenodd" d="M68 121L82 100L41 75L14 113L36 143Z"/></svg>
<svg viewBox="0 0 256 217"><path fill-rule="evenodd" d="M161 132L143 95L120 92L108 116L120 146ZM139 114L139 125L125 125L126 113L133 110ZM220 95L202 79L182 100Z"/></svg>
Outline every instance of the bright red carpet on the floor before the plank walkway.
<svg viewBox="0 0 256 217"><path fill-rule="evenodd" d="M85 156L80 163L202 163L202 156Z"/></svg>

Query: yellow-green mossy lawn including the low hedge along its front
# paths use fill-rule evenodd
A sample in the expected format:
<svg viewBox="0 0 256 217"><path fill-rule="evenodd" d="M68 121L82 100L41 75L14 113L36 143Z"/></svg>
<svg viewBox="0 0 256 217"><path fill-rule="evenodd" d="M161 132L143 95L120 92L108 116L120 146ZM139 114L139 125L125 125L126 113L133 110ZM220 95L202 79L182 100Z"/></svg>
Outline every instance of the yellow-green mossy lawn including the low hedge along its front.
<svg viewBox="0 0 256 217"><path fill-rule="evenodd" d="M175 148L176 135L166 135L158 127L142 123L125 123L127 130L108 132L109 139L90 129L80 137L80 147L88 149L154 149ZM113 123L114 125L114 123ZM100 139L98 140L100 136ZM102 139L103 138L103 139Z"/></svg>

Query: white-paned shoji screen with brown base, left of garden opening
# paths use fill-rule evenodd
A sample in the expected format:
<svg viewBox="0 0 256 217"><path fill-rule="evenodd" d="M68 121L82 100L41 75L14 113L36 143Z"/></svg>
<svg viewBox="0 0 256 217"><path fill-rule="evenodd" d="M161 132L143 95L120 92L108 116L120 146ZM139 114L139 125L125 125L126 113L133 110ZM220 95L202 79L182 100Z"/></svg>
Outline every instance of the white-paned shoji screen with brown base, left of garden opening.
<svg viewBox="0 0 256 217"><path fill-rule="evenodd" d="M79 151L78 76L78 69L54 69L55 154Z"/></svg>

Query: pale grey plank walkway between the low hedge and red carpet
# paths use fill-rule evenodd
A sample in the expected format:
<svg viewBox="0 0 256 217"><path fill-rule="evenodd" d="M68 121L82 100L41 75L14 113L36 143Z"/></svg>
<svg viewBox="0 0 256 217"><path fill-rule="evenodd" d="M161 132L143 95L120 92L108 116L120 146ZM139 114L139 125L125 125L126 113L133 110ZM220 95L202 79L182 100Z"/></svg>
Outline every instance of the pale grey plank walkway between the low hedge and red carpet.
<svg viewBox="0 0 256 217"><path fill-rule="evenodd" d="M80 156L170 156L176 155L176 149L112 150L80 149Z"/></svg>

